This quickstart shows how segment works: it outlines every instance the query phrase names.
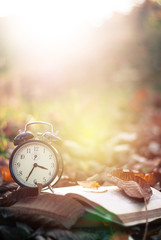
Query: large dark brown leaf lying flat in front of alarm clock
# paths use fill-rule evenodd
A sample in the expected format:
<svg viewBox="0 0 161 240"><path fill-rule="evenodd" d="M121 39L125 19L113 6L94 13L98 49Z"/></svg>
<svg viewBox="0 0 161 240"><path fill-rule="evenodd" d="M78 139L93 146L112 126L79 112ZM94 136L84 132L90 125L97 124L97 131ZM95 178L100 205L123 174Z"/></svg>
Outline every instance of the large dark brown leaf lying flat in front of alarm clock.
<svg viewBox="0 0 161 240"><path fill-rule="evenodd" d="M46 218L57 225L70 228L85 213L85 207L70 196L44 193L19 199L10 207L1 207L1 212L4 217L30 220L34 224L41 219L44 225Z"/></svg>

